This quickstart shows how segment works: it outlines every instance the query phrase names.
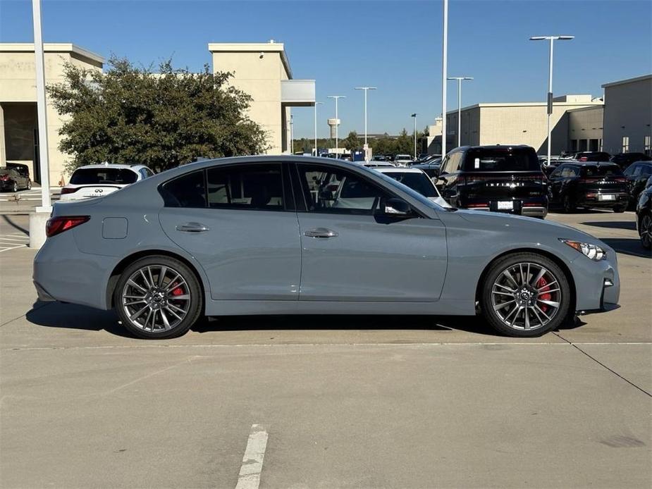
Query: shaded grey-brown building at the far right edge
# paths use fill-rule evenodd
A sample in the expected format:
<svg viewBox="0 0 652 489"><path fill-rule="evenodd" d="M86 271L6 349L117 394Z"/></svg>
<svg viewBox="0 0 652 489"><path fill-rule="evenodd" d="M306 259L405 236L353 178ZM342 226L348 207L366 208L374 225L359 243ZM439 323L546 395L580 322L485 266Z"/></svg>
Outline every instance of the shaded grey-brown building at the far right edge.
<svg viewBox="0 0 652 489"><path fill-rule="evenodd" d="M605 83L604 151L652 154L652 75Z"/></svg>

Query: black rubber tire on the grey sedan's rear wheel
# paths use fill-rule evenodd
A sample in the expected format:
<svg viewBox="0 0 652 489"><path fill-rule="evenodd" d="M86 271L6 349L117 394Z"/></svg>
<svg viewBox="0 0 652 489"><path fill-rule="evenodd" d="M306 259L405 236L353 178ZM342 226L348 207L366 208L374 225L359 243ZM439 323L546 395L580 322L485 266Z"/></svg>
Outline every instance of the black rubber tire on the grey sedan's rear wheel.
<svg viewBox="0 0 652 489"><path fill-rule="evenodd" d="M133 317L133 314L130 314L128 311L128 306L129 304L126 304L123 302L123 292L125 292L125 286L127 286L128 280L133 276L134 273L139 273L138 271L145 268L145 267L150 267L156 270L156 268L159 268L161 270L161 267L164 267L168 270L168 272L176 272L179 274L180 279L183 280L183 294L188 295L188 303L187 305L184 303L183 307L187 307L187 311L185 312L185 316L181 316L182 320L178 322L178 324L173 325L169 329L164 329L164 330L155 330L154 328L154 323L156 322L156 312L154 312L154 320L152 321L152 330L147 330L147 321L145 321L145 326L143 327L142 324L140 324L138 321L136 321L135 318L132 320L130 318ZM166 277L165 273L159 273L159 276L164 276ZM171 274L172 275L172 274ZM154 282L159 282L159 276L155 276L156 278L153 280ZM170 278L170 276L167 276L167 278ZM179 280L172 280L170 278L168 283L165 283L164 285L161 285L160 290L164 289L165 285L169 285L170 287L173 287L174 283L178 283ZM168 294L166 294L166 297L168 297L170 300L178 300L173 297L173 292L175 292L176 289L180 289L180 287L175 287L172 289ZM135 290L135 289L133 289ZM142 292L145 293L145 292ZM151 295L151 289L150 289L150 295ZM128 299L124 299L125 301ZM151 302L151 304L154 304L154 307L158 307L158 309L163 309L165 307L164 304L167 304L168 299L164 299L164 303L158 303L154 304L154 302ZM149 305L145 301L144 302L147 307ZM203 291L202 287L199 286L199 280L197 280L197 277L195 276L195 273L188 268L187 265L185 265L182 261L179 261L177 259L173 259L169 256L161 256L161 255L154 255L154 256L146 256L142 259L138 259L137 261L134 261L133 264L130 264L123 273L121 274L120 278L118 279L118 283L116 283L116 290L113 291L113 304L114 307L116 308L116 313L118 314L118 317L120 318L123 326L127 328L127 330L130 331L130 333L133 333L133 335L137 336L138 338L145 338L145 339L152 339L152 340L162 340L166 338L176 338L180 335L183 335L189 330L192 325L194 325L197 322L197 319L199 316L202 314L203 310L203 303L204 303L204 296L203 296ZM178 304L178 303L177 303ZM141 304L139 304L137 307L140 307ZM135 308L135 306L134 306ZM152 307L149 307L150 310L152 310ZM144 316L147 314L147 309L145 312L142 314ZM158 313L159 316L167 316L165 313ZM171 314L168 311L168 314ZM149 316L147 317L147 320L149 320ZM161 318L162 320L162 318ZM166 319L168 321L168 319ZM167 324L167 322L166 322Z"/></svg>

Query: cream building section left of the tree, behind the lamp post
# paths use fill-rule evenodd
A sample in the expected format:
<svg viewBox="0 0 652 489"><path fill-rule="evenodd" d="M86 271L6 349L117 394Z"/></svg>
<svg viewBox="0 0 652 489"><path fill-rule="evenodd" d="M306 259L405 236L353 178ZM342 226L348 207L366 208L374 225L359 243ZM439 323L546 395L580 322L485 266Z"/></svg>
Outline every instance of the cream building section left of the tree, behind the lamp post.
<svg viewBox="0 0 652 489"><path fill-rule="evenodd" d="M73 44L44 44L45 80L47 85L63 81L63 65L66 62L73 63L83 68L102 70L104 59L90 51L76 47ZM25 163L30 166L32 177L37 175L33 168L33 156L26 160L11 159L7 153L11 142L6 141L8 121L5 120L7 113L13 113L20 120L30 120L36 104L36 80L35 80L35 55L34 44L6 43L0 44L0 105L3 110L0 112L1 133L0 137L0 166L6 164L6 159ZM22 113L21 113L22 111ZM63 118L56 113L51 104L47 104L47 137L50 168L50 182L56 185L61 175L64 174L66 154L59 151L59 129L63 125ZM34 147L33 129L29 131L26 126L20 126L20 132L25 135L32 132L31 146ZM27 142L25 142L27 144ZM32 151L33 153L33 151Z"/></svg>

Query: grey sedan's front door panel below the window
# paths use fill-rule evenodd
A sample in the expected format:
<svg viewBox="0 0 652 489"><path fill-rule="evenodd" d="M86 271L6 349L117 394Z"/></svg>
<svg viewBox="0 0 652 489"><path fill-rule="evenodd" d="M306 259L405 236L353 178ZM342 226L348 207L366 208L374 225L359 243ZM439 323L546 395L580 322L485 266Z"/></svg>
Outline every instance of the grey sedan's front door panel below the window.
<svg viewBox="0 0 652 489"><path fill-rule="evenodd" d="M374 216L309 212L298 216L300 300L431 302L441 295L447 263L441 221L381 223ZM333 235L306 236L315 230Z"/></svg>

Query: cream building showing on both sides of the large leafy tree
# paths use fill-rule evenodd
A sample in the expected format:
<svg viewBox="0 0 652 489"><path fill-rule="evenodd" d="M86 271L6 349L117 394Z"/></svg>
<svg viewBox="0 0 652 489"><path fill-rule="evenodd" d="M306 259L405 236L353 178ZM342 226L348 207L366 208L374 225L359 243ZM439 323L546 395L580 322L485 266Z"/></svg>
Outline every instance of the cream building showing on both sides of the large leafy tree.
<svg viewBox="0 0 652 489"><path fill-rule="evenodd" d="M102 70L104 59L74 44L44 44L45 82L63 81L66 62ZM233 86L253 98L249 116L266 130L269 154L290 151L290 107L314 106L314 80L293 80L283 44L209 44L213 69L230 71ZM47 107L50 182L56 185L68 156L59 151L64 120ZM0 44L0 166L7 161L30 166L40 181L34 44Z"/></svg>

